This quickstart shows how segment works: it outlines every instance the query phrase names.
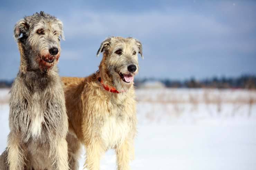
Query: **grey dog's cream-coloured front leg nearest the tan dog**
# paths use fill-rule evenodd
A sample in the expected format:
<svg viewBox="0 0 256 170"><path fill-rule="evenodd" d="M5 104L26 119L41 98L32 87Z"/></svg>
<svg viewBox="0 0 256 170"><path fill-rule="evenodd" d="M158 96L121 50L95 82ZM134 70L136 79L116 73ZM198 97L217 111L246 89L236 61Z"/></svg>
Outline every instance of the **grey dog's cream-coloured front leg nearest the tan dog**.
<svg viewBox="0 0 256 170"><path fill-rule="evenodd" d="M68 170L67 142L64 138L55 140L50 146L52 158L52 170Z"/></svg>

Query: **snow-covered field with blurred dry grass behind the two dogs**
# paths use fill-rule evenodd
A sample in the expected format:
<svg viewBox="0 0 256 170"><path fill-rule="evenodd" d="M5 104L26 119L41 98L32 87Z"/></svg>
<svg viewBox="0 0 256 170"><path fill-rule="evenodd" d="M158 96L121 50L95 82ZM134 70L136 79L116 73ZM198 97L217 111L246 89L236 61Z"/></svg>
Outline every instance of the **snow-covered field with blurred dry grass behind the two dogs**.
<svg viewBox="0 0 256 170"><path fill-rule="evenodd" d="M0 91L0 152L6 147L8 89ZM138 89L132 170L255 170L256 91ZM81 158L81 169L84 158ZM101 169L116 169L112 150Z"/></svg>

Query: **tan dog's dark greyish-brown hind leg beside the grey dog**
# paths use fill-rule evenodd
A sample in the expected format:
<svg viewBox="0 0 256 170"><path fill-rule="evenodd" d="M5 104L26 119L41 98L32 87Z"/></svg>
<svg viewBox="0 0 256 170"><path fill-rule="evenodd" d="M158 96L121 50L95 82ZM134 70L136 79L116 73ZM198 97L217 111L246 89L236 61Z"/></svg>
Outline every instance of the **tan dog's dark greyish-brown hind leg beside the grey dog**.
<svg viewBox="0 0 256 170"><path fill-rule="evenodd" d="M79 158L81 154L81 142L77 139L76 134L68 132L67 134L68 145L68 164L71 170L79 169Z"/></svg>

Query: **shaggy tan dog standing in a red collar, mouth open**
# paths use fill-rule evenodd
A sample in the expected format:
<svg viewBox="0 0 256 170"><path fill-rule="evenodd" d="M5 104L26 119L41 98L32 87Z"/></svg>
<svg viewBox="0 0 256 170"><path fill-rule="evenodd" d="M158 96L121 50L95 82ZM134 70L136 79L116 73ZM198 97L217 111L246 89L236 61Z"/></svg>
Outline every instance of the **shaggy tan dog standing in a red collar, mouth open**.
<svg viewBox="0 0 256 170"><path fill-rule="evenodd" d="M69 117L69 163L78 169L81 143L85 168L100 169L100 158L115 149L119 170L129 169L134 154L136 101L133 78L138 73L141 43L134 38L111 37L101 43L99 71L86 78L62 78Z"/></svg>

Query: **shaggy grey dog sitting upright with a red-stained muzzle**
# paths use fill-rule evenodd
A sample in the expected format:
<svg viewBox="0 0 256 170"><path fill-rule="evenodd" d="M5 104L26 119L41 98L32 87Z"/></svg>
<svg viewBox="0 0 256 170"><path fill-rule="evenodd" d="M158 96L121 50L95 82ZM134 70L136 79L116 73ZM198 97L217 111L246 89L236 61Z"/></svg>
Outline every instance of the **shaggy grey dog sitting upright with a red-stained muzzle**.
<svg viewBox="0 0 256 170"><path fill-rule="evenodd" d="M42 11L15 25L20 69L10 91L10 133L1 169L68 170L68 121L56 66L60 36L62 22Z"/></svg>

